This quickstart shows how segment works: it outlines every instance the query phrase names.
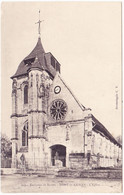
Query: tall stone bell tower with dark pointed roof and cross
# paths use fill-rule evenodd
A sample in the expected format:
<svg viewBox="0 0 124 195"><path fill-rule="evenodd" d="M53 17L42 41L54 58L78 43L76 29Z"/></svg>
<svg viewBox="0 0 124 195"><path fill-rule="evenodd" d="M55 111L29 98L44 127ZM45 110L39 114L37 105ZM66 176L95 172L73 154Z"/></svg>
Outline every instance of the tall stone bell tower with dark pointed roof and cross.
<svg viewBox="0 0 124 195"><path fill-rule="evenodd" d="M40 35L40 19L38 32ZM60 64L45 53L39 36L32 52L19 64L12 84L12 167L25 156L28 167L44 165L45 124L49 88Z"/></svg>

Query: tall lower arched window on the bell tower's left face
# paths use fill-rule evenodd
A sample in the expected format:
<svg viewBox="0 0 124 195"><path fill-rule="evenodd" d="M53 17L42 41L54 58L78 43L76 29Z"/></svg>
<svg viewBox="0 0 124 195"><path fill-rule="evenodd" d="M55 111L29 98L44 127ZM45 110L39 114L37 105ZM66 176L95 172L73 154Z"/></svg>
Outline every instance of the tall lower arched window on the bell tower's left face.
<svg viewBox="0 0 124 195"><path fill-rule="evenodd" d="M22 130L22 146L28 146L28 122L25 123Z"/></svg>

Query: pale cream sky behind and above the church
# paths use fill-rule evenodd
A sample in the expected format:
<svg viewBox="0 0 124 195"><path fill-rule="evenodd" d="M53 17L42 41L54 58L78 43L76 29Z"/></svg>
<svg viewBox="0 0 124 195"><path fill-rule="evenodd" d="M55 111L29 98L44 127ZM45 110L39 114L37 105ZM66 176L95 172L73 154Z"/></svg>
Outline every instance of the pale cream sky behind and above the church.
<svg viewBox="0 0 124 195"><path fill-rule="evenodd" d="M121 135L121 3L3 2L1 9L2 133L11 137L10 77L37 43L40 9L45 52L59 61L77 99L113 136Z"/></svg>

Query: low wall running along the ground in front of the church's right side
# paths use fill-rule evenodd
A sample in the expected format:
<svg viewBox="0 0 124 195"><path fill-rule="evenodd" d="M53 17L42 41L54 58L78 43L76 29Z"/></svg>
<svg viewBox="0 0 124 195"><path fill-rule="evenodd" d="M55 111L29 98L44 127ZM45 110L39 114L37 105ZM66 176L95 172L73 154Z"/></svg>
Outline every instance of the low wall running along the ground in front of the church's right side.
<svg viewBox="0 0 124 195"><path fill-rule="evenodd" d="M122 179L122 170L61 170L60 177Z"/></svg>

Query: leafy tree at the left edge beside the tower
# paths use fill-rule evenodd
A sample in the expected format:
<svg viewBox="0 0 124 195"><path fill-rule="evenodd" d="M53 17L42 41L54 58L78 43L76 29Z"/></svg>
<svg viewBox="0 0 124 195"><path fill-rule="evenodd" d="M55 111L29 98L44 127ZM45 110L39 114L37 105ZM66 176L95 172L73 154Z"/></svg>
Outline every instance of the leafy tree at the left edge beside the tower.
<svg viewBox="0 0 124 195"><path fill-rule="evenodd" d="M12 157L12 143L9 138L1 134L1 158L11 158Z"/></svg>

